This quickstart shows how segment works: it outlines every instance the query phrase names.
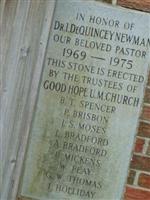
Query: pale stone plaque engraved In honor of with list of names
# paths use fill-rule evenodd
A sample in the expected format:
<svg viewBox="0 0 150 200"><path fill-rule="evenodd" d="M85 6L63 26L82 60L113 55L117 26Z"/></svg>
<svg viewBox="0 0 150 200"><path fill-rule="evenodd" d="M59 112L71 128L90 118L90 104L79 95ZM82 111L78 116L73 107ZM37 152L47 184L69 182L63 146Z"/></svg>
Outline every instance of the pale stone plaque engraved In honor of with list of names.
<svg viewBox="0 0 150 200"><path fill-rule="evenodd" d="M149 19L57 1L20 196L121 199L147 79Z"/></svg>

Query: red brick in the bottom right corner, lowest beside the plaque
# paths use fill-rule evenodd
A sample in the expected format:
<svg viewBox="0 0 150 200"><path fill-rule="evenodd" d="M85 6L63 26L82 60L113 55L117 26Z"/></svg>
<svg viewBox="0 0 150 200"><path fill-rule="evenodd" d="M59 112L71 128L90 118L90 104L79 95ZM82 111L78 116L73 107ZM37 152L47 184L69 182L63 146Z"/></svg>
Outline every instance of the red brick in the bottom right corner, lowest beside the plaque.
<svg viewBox="0 0 150 200"><path fill-rule="evenodd" d="M124 200L150 200L150 192L126 187Z"/></svg>

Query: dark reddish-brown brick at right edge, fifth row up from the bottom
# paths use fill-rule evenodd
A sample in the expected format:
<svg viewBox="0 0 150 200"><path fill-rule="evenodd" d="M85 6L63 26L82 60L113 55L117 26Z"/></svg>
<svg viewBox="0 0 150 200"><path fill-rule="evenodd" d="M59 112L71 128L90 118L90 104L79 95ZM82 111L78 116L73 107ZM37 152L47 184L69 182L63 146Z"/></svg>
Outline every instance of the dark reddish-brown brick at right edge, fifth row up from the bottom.
<svg viewBox="0 0 150 200"><path fill-rule="evenodd" d="M150 138L150 124L145 122L140 122L138 135Z"/></svg>

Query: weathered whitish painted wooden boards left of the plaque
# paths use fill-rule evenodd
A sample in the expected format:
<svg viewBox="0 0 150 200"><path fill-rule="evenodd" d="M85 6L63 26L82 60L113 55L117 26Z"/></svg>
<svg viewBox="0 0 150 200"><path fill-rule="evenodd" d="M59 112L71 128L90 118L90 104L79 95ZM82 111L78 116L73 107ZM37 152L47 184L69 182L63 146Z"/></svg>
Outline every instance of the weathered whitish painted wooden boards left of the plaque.
<svg viewBox="0 0 150 200"><path fill-rule="evenodd" d="M1 2L1 199L16 196L55 0Z"/></svg>

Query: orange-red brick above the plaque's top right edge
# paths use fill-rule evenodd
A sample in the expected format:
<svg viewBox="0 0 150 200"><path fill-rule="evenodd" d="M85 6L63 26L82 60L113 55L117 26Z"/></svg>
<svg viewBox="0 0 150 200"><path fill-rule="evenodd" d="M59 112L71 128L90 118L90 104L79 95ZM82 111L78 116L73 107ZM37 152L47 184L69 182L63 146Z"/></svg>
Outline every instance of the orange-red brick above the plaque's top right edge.
<svg viewBox="0 0 150 200"><path fill-rule="evenodd" d="M117 4L127 8L150 12L150 0L117 0Z"/></svg>

